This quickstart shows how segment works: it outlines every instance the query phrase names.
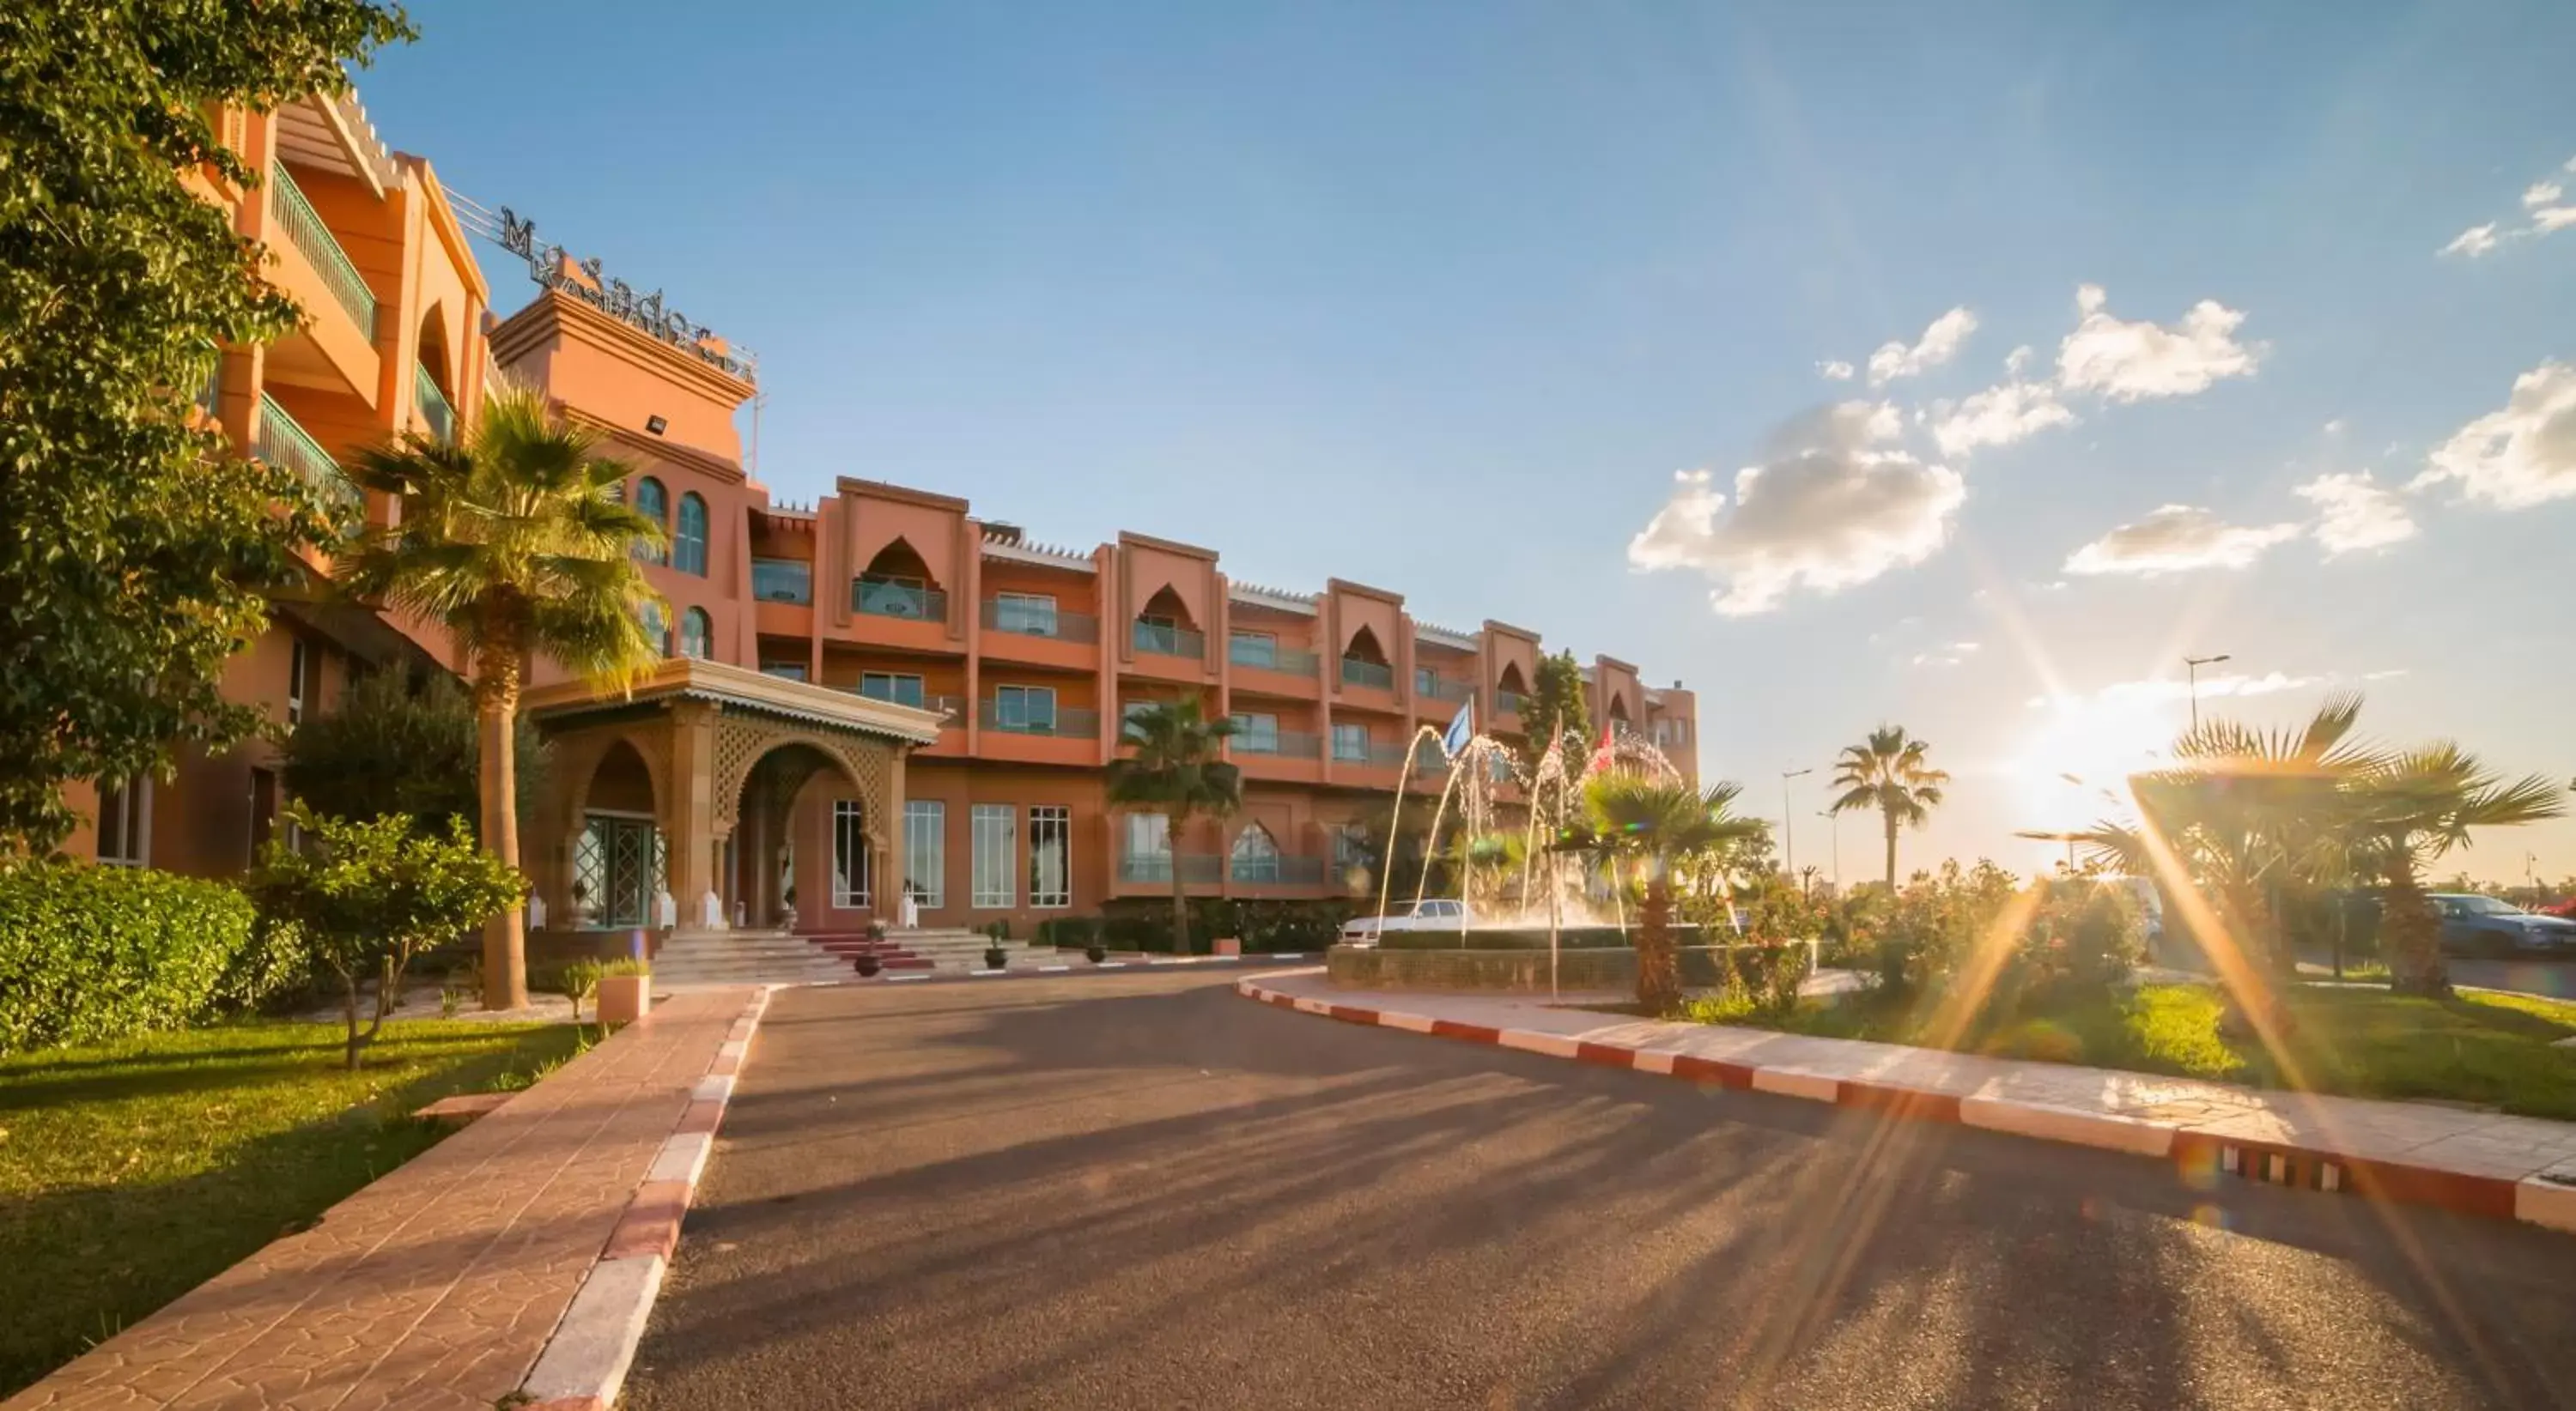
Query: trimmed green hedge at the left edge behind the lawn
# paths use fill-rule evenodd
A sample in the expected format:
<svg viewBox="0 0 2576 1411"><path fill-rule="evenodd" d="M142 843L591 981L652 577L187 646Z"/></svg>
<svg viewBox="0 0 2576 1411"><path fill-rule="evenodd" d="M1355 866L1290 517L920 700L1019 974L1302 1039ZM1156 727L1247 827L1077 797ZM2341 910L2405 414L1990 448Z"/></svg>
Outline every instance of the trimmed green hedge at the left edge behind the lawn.
<svg viewBox="0 0 2576 1411"><path fill-rule="evenodd" d="M294 937L252 942L224 883L147 868L0 870L0 1053L175 1030L301 973Z"/></svg>

